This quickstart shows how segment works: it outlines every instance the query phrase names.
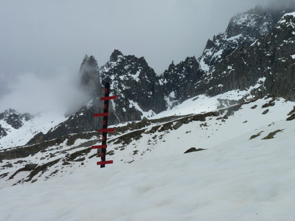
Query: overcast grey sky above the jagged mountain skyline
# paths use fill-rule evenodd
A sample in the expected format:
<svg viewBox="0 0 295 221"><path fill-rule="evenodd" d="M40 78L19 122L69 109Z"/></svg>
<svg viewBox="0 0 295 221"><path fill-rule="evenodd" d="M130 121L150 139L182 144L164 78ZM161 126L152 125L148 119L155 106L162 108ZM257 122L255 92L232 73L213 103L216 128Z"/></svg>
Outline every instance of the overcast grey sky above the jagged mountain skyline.
<svg viewBox="0 0 295 221"><path fill-rule="evenodd" d="M85 54L102 66L117 48L162 73L172 60L199 57L233 15L265 1L0 0L0 111L37 111L42 98L71 96L67 81Z"/></svg>

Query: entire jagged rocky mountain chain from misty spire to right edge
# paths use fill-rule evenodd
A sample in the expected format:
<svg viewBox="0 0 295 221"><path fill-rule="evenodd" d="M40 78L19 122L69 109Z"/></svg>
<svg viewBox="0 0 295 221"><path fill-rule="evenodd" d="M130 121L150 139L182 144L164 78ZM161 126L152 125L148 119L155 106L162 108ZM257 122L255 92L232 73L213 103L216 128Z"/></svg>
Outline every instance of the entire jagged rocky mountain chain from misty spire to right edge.
<svg viewBox="0 0 295 221"><path fill-rule="evenodd" d="M200 58L172 62L160 75L144 57L123 55L120 50L114 50L100 68L93 56L84 57L81 87L91 101L48 133L35 135L28 144L101 127L93 113L102 112L99 97L106 81L111 82L111 94L118 96L111 101L110 124L150 117L198 95L232 90L240 91L244 100L267 94L293 100L294 14L285 15L292 10L256 7L238 14L225 32L207 42Z"/></svg>

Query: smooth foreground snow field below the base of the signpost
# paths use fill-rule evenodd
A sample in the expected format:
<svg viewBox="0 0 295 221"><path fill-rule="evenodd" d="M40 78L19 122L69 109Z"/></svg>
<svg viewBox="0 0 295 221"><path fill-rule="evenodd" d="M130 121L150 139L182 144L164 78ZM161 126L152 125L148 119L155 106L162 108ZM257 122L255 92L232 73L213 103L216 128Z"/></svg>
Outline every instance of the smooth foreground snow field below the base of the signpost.
<svg viewBox="0 0 295 221"><path fill-rule="evenodd" d="M294 127L263 145L249 146L246 136L219 149L105 170L89 164L1 190L0 211L4 220L293 220L290 133Z"/></svg>

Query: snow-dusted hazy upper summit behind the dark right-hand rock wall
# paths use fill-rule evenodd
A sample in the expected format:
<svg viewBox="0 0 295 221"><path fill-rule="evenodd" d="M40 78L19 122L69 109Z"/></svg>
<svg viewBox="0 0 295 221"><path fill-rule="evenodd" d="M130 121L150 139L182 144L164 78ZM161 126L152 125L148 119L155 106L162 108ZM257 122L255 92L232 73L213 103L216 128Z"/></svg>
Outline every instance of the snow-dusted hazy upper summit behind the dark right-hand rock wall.
<svg viewBox="0 0 295 221"><path fill-rule="evenodd" d="M249 46L259 37L267 35L286 12L292 11L291 8L270 10L258 6L232 17L224 33L207 41L207 46L199 58L202 70L213 71L216 64L226 59L236 48Z"/></svg>

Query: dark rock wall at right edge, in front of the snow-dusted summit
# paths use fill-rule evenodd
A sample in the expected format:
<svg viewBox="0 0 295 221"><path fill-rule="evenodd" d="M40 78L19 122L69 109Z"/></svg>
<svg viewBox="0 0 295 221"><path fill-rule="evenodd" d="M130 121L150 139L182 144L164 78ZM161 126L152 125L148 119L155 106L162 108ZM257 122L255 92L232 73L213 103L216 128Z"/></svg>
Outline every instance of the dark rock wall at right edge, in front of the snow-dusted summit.
<svg viewBox="0 0 295 221"><path fill-rule="evenodd" d="M294 17L285 16L265 37L249 46L239 46L196 84L199 93L218 95L245 90L294 100Z"/></svg>

